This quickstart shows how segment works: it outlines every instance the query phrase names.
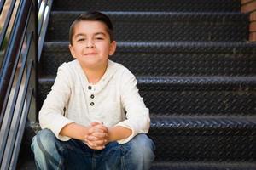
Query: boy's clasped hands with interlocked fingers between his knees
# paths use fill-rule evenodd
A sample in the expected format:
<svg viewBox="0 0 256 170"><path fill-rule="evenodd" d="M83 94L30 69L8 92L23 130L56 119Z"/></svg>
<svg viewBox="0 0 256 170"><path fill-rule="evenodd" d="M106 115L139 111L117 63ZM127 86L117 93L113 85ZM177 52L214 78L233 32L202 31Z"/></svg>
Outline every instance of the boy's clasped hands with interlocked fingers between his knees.
<svg viewBox="0 0 256 170"><path fill-rule="evenodd" d="M108 127L105 127L102 122L91 122L84 143L92 150L102 150L108 142Z"/></svg>

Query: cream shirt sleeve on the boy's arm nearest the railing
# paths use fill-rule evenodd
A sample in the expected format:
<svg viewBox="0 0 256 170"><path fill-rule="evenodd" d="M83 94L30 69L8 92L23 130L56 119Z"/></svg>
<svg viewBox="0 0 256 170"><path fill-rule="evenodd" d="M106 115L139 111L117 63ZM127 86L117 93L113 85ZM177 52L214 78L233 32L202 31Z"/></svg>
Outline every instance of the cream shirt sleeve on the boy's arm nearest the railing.
<svg viewBox="0 0 256 170"><path fill-rule="evenodd" d="M67 64L59 67L55 83L50 93L44 100L44 104L39 111L39 123L43 128L50 129L58 139L68 140L67 136L61 136L62 127L73 123L64 115L64 108L67 106L72 88L72 78L67 69Z"/></svg>

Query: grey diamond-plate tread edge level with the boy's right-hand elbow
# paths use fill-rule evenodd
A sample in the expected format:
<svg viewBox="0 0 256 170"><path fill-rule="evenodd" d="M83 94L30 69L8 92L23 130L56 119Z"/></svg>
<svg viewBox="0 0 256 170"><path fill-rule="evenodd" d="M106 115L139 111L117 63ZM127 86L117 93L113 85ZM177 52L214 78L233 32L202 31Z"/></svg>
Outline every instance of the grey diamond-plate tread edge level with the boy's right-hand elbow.
<svg viewBox="0 0 256 170"><path fill-rule="evenodd" d="M152 129L152 128L161 128L161 127L180 128L180 129L209 128L211 130L218 129L218 128L223 128L223 129L248 128L248 129L256 130L256 115L255 116L151 116L150 128ZM176 132L170 131L168 133L172 134ZM198 131L198 132L195 132L195 134L196 133L201 133L201 132ZM192 135L192 133L190 134ZM256 134L256 131L253 132L253 135L254 134ZM207 135L207 133L205 133L205 135ZM231 135L231 133L229 135Z"/></svg>

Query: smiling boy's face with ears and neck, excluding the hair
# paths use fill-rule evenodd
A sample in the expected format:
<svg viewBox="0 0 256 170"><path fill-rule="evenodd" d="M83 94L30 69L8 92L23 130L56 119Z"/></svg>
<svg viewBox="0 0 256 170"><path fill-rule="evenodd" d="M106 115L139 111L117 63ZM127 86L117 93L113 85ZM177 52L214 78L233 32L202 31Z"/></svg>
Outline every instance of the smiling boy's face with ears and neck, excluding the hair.
<svg viewBox="0 0 256 170"><path fill-rule="evenodd" d="M116 48L116 42L110 42L107 26L100 21L79 21L73 28L72 42L69 49L73 58L90 69L105 68Z"/></svg>

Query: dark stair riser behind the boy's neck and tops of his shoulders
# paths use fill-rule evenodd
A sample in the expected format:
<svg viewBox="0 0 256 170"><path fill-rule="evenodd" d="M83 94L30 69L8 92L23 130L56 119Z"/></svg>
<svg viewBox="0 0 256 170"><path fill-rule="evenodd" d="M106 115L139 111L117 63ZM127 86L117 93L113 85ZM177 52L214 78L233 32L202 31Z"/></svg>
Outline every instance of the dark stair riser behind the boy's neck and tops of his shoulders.
<svg viewBox="0 0 256 170"><path fill-rule="evenodd" d="M56 75L58 66L72 59L68 49L52 52L45 48L42 75ZM111 59L125 65L137 76L256 75L256 54L129 53L118 48Z"/></svg>

